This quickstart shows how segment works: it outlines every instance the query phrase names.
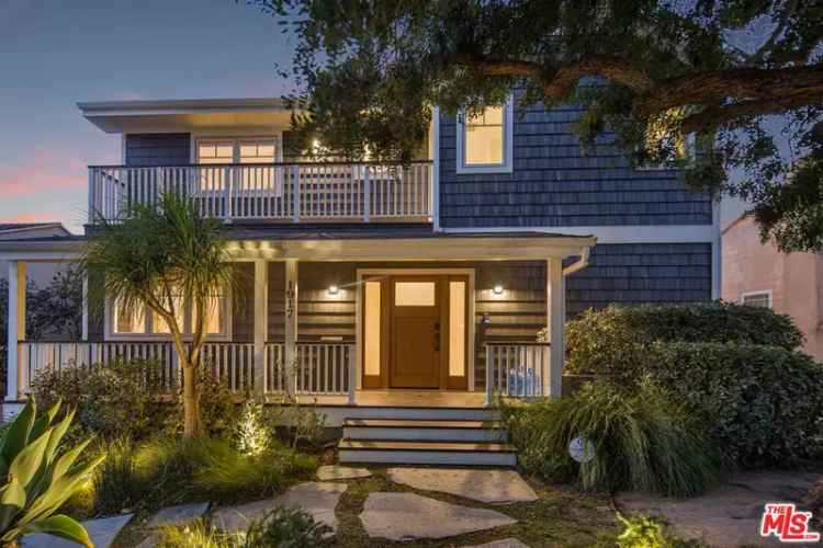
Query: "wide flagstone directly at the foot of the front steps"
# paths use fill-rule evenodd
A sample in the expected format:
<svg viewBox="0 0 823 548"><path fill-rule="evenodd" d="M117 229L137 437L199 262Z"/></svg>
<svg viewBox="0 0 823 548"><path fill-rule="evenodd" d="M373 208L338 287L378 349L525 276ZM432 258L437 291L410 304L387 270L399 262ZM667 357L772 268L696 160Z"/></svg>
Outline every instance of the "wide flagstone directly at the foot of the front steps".
<svg viewBox="0 0 823 548"><path fill-rule="evenodd" d="M538 495L514 470L390 468L388 478L424 491L442 491L485 503L532 502Z"/></svg>

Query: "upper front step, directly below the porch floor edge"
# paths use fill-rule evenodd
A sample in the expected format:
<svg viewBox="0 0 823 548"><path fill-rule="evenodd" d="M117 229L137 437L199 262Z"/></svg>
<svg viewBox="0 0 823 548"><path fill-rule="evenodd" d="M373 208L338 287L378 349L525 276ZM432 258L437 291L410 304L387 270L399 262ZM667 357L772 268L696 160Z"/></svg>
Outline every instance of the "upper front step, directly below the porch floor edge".
<svg viewBox="0 0 823 548"><path fill-rule="evenodd" d="M347 419L347 439L398 439L405 442L498 442L508 441L497 421Z"/></svg>

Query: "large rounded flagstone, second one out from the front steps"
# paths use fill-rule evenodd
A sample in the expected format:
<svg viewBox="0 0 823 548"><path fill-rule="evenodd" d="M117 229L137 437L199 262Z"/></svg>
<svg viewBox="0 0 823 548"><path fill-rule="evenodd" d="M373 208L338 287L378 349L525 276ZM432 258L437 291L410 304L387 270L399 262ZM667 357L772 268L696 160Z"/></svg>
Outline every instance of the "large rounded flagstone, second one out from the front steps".
<svg viewBox="0 0 823 548"><path fill-rule="evenodd" d="M494 510L458 506L415 493L370 493L360 521L370 537L388 540L446 538L517 523Z"/></svg>

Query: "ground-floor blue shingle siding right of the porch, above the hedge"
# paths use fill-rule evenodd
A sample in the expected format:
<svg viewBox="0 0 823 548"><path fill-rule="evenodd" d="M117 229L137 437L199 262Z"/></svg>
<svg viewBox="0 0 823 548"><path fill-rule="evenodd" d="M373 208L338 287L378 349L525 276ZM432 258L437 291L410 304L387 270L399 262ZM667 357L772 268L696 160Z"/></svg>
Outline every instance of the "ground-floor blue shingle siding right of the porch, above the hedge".
<svg viewBox="0 0 823 548"><path fill-rule="evenodd" d="M566 316L609 304L711 299L711 243L615 243L591 248L566 278Z"/></svg>

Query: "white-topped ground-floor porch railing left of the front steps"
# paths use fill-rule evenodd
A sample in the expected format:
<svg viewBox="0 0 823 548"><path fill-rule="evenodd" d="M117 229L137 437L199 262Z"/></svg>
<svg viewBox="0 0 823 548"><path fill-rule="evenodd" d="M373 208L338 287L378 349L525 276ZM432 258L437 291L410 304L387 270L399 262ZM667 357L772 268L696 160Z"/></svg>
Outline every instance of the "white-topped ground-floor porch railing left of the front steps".
<svg viewBox="0 0 823 548"><path fill-rule="evenodd" d="M226 383L232 392L251 393L261 383L263 393L351 395L354 381L354 345L300 343L292 367L284 345L267 343L263 372L257 375L252 343L206 343L203 367ZM21 342L18 344L19 389L27 392L31 379L45 369L77 365L105 366L112 359L153 359L160 365L161 386L179 386L180 366L171 342Z"/></svg>

